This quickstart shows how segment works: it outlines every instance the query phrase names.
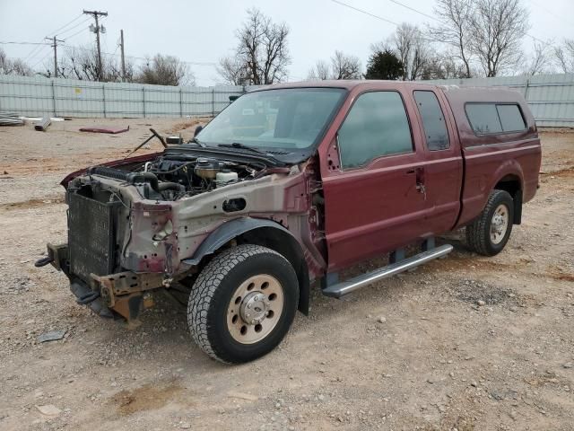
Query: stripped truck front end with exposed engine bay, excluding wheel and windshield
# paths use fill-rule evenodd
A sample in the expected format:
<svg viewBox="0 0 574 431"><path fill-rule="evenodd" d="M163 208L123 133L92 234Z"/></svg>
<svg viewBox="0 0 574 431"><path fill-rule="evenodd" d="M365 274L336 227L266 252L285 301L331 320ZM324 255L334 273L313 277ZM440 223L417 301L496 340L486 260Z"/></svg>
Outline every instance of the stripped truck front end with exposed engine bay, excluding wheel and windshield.
<svg viewBox="0 0 574 431"><path fill-rule="evenodd" d="M189 146L67 177L68 242L48 244L38 266L62 270L78 303L129 326L152 306L153 290L188 292L211 254L246 238L277 242L308 285L308 261L316 271L325 265L309 228L309 163L232 151L208 157ZM303 252L306 244L314 252Z"/></svg>

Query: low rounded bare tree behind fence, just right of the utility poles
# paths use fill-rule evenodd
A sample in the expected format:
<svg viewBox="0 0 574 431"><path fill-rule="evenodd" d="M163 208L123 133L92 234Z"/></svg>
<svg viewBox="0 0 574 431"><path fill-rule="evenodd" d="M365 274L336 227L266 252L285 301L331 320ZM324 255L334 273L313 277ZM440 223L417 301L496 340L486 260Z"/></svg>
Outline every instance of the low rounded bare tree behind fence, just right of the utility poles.
<svg viewBox="0 0 574 431"><path fill-rule="evenodd" d="M140 68L136 81L156 85L195 85L196 78L178 57L156 54Z"/></svg>

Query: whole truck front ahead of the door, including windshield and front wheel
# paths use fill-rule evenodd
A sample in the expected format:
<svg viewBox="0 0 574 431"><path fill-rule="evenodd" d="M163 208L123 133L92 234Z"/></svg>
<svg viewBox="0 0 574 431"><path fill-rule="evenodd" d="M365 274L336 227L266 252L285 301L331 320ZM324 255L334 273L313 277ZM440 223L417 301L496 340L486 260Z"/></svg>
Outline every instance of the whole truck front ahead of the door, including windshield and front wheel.
<svg viewBox="0 0 574 431"><path fill-rule="evenodd" d="M317 145L345 95L250 92L187 143L152 130L161 153L74 172L62 181L68 241L37 266L63 271L101 316L135 327L161 292L187 305L209 356L265 355L309 312L309 284L326 271Z"/></svg>

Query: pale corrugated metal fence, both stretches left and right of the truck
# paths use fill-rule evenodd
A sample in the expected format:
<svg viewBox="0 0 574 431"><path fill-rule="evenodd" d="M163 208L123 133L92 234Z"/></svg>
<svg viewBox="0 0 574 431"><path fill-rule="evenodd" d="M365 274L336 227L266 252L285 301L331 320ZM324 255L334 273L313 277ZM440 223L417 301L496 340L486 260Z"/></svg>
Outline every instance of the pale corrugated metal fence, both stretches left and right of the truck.
<svg viewBox="0 0 574 431"><path fill-rule="evenodd" d="M446 79L435 84L505 86L522 92L538 126L574 127L574 74ZM213 116L242 86L169 87L0 75L0 111L95 118Z"/></svg>

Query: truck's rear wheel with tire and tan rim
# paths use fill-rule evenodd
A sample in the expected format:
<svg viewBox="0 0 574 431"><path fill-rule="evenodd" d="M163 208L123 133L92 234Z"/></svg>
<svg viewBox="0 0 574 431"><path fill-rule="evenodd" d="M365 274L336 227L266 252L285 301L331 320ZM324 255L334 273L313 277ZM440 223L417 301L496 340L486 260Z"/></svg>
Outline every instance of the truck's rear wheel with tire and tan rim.
<svg viewBox="0 0 574 431"><path fill-rule="evenodd" d="M509 242L514 202L508 191L492 190L483 212L466 226L466 243L473 251L494 256Z"/></svg>

